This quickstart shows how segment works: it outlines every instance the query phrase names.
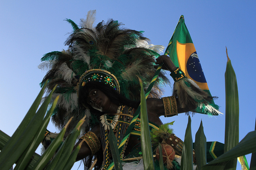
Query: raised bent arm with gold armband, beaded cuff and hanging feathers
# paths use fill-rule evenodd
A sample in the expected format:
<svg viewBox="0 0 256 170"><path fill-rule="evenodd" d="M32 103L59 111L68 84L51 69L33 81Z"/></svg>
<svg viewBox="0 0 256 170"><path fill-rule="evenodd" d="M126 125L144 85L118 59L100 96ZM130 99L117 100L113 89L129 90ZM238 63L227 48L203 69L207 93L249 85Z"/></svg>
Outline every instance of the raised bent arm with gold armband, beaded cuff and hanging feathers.
<svg viewBox="0 0 256 170"><path fill-rule="evenodd" d="M171 72L170 75L174 79L174 91L173 96L170 97L148 99L148 110L152 110L158 116L170 117L178 113L192 111L196 109L199 103L207 104L212 99L196 83L188 79L168 56L161 55L156 59L156 64L155 68L158 67L158 64L163 64L162 69Z"/></svg>

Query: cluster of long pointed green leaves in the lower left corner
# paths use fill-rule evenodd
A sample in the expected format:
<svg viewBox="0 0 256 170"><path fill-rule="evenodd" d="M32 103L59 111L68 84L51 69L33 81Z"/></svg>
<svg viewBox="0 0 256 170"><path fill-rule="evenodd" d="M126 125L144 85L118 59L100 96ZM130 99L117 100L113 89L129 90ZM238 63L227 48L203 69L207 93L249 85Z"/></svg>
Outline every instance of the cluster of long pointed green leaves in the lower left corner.
<svg viewBox="0 0 256 170"><path fill-rule="evenodd" d="M68 135L68 137L66 137L63 143L62 140L68 123L42 156L35 153L38 145L40 145L44 139L46 127L58 101L57 97L47 111L48 105L51 102L52 92L54 91L52 90L50 95L38 109L45 87L46 84L38 94L36 100L12 137L9 137L4 132L0 131L1 170L9 170L14 164L16 164L14 170L54 169L56 166L58 166L58 169L69 170L72 168L82 145L81 143L73 150L74 143L80 135L80 127L84 122L85 117L79 121L76 128ZM58 152L56 152L57 149ZM66 164L63 164L63 162L66 162Z"/></svg>

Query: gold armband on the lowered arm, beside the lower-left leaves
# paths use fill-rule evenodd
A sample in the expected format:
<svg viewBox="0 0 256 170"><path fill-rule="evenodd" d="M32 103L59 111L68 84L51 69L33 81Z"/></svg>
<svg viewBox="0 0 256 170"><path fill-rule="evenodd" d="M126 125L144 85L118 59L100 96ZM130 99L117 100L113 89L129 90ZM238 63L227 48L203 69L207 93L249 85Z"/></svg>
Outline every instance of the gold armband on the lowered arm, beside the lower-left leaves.
<svg viewBox="0 0 256 170"><path fill-rule="evenodd" d="M92 155L94 155L100 149L100 141L98 137L93 132L87 132L80 139L85 139L85 142L90 147Z"/></svg>

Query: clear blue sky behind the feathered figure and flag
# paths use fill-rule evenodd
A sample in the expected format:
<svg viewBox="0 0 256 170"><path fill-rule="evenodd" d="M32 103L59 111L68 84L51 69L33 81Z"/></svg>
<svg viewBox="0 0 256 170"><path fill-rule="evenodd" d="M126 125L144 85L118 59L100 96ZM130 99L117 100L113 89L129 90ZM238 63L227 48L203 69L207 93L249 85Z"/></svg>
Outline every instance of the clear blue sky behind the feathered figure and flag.
<svg viewBox="0 0 256 170"><path fill-rule="evenodd" d="M89 10L97 10L95 23L113 18L124 27L145 31L144 36L152 44L165 47L184 15L210 92L219 97L215 103L224 113L216 117L198 113L191 117L193 140L202 120L207 141L224 143L227 47L238 82L241 140L254 130L256 118L252 107L256 96L255 9L256 2L252 0L6 1L0 6L0 129L12 135L38 95L39 83L46 74L37 68L41 57L67 49L64 41L72 27L63 20L68 18L79 24ZM171 87L164 90L163 96L171 95ZM182 113L162 117L162 121L175 121L174 133L184 140L188 116ZM57 131L51 123L48 129ZM250 164L250 155L247 159Z"/></svg>

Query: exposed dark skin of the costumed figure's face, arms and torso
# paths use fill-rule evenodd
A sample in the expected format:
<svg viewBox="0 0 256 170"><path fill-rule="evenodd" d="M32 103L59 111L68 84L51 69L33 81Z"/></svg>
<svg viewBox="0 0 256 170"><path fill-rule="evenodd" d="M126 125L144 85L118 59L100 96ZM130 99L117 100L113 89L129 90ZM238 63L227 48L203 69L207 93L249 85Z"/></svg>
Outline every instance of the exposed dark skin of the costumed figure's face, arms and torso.
<svg viewBox="0 0 256 170"><path fill-rule="evenodd" d="M156 64L163 63L162 69L169 70L170 72L174 71L176 69L176 66L172 63L170 58L166 55L161 55L156 59ZM158 65L155 66L156 68ZM178 113L184 113L187 111L192 110L191 108L195 109L196 106L189 106L190 110L188 108L181 108L178 104L177 100L177 106L178 106ZM90 104L94 109L97 109L102 112L102 114L112 114L114 115L119 107L119 104L115 104L110 101L108 96L106 96L102 91L100 91L97 88L89 89L89 94L87 98L87 103ZM162 121L160 120L160 116L164 115L164 104L162 102L162 99L158 98L148 98L146 100L147 104L147 111L148 111L148 120L156 123L157 125L162 125ZM134 108L134 113L137 108ZM97 137L100 140L100 125L96 125L91 129L93 133L97 135ZM75 147L82 141L82 139L79 139L78 143L76 143ZM134 147L140 147L140 140L138 140L138 137L130 136L128 145L126 147L126 152L129 153ZM81 149L78 152L76 160L81 160L87 156L90 156L92 154L89 146L86 142L82 143Z"/></svg>

